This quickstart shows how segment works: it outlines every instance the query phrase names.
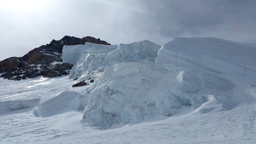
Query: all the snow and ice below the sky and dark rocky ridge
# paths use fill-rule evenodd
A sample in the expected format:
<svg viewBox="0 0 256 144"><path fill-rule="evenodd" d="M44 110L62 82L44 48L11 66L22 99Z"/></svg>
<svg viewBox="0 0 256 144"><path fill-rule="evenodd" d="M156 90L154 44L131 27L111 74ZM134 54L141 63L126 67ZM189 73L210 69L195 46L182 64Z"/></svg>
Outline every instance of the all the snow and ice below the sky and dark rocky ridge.
<svg viewBox="0 0 256 144"><path fill-rule="evenodd" d="M256 47L85 43L65 46L63 60L69 76L0 79L0 143L256 143Z"/></svg>

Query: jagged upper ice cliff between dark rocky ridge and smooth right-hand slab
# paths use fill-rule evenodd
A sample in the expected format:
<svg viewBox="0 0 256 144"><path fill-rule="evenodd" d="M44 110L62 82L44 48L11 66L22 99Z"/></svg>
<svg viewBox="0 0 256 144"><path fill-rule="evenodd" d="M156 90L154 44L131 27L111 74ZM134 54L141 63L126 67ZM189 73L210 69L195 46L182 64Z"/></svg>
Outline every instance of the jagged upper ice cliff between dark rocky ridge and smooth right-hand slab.
<svg viewBox="0 0 256 144"><path fill-rule="evenodd" d="M85 46L67 46L63 48L63 61L76 63L70 72L70 78L97 77L107 66L121 62L154 61L160 46L150 41L131 44L97 45L85 43ZM83 56L78 55L84 54ZM66 58L71 57L71 58ZM78 61L76 61L78 60Z"/></svg>

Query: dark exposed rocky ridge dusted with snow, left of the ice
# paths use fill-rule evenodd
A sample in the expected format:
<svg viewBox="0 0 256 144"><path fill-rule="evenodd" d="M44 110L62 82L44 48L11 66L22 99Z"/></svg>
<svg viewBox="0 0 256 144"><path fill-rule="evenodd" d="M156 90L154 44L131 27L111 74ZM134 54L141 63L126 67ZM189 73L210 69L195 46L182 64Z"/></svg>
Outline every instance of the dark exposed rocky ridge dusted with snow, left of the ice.
<svg viewBox="0 0 256 144"><path fill-rule="evenodd" d="M11 57L0 61L0 77L9 80L21 80L37 76L57 77L69 74L73 67L70 63L62 62L62 48L91 42L110 45L106 41L86 36L77 38L64 36L61 40L52 40L49 44L34 48L23 57Z"/></svg>

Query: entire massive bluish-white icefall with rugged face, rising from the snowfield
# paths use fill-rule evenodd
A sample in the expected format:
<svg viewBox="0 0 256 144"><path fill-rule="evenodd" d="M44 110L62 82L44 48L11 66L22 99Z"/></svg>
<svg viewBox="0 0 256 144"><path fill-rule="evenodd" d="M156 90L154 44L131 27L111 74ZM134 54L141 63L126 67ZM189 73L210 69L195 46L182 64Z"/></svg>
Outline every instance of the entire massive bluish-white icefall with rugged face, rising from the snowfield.
<svg viewBox="0 0 256 144"><path fill-rule="evenodd" d="M179 46L181 58L169 45ZM102 51L103 47L109 51ZM75 57L72 48L65 49ZM173 38L159 51L149 41L120 44L113 50L97 45L85 49L84 56L75 58L80 60L74 61L70 78L96 79L85 91L83 122L90 126L106 129L114 123L138 123L156 115L172 116L184 108L199 108L196 113L227 110L254 100L232 78L220 74L244 76L244 66L246 75L253 74L255 51L247 45L216 38Z"/></svg>

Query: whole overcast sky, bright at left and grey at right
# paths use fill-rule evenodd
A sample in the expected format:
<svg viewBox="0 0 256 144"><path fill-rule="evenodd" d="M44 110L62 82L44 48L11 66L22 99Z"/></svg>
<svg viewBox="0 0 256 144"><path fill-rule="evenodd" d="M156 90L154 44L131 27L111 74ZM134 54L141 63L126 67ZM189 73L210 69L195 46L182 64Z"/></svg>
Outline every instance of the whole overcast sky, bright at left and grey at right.
<svg viewBox="0 0 256 144"><path fill-rule="evenodd" d="M256 44L256 0L0 0L0 60L63 36L111 44L211 36Z"/></svg>

